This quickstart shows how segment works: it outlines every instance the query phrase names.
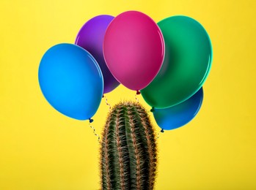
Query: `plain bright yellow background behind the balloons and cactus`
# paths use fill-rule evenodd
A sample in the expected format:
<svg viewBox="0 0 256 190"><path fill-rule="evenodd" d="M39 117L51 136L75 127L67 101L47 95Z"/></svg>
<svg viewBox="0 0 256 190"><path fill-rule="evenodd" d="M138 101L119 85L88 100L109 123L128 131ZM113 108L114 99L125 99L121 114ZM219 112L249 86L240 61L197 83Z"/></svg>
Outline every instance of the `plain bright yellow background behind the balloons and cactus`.
<svg viewBox="0 0 256 190"><path fill-rule="evenodd" d="M256 189L255 4L1 0L0 189L99 189L96 137L87 121L67 118L46 102L37 69L49 47L73 43L90 18L131 9L156 22L188 15L202 23L213 44L200 113L158 140L156 189ZM120 86L107 96L114 105L134 94ZM98 133L107 112L102 102L93 123Z"/></svg>

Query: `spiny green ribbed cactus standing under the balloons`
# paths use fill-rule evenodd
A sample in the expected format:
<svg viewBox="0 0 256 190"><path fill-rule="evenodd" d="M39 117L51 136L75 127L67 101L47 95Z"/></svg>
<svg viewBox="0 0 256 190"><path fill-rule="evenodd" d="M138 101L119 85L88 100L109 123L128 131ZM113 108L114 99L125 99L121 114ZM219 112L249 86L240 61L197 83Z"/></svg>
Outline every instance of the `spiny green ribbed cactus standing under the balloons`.
<svg viewBox="0 0 256 190"><path fill-rule="evenodd" d="M101 189L153 189L156 178L156 135L139 103L114 106L100 146Z"/></svg>

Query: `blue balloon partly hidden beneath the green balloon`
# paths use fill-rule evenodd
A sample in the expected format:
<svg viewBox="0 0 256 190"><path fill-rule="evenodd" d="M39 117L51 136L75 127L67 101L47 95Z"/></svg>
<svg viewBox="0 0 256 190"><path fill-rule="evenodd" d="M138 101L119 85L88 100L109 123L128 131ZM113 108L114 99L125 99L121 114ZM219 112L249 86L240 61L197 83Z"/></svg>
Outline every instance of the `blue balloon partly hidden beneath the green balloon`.
<svg viewBox="0 0 256 190"><path fill-rule="evenodd" d="M202 105L203 91L200 88L196 94L186 101L165 109L155 108L153 115L161 129L171 130L189 123L197 115Z"/></svg>

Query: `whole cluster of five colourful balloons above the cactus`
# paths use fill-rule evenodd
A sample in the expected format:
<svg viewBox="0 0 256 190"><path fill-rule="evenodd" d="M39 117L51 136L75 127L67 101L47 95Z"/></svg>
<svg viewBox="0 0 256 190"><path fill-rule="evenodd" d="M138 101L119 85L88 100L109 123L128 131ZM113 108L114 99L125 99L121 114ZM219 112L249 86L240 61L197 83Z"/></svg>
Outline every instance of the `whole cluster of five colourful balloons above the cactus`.
<svg viewBox="0 0 256 190"><path fill-rule="evenodd" d="M103 94L121 83L142 93L161 129L175 129L200 110L211 61L211 39L196 20L173 16L155 23L128 11L92 18L75 45L51 47L38 77L45 99L71 118L92 121Z"/></svg>

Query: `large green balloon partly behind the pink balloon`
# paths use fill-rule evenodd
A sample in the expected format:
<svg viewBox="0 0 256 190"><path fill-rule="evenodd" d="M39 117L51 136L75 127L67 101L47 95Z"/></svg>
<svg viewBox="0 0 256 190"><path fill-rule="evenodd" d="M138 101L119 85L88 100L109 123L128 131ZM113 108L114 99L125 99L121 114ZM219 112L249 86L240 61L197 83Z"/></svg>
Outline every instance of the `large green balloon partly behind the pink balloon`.
<svg viewBox="0 0 256 190"><path fill-rule="evenodd" d="M166 108L195 94L211 69L211 40L196 20L174 16L158 23L164 34L165 58L156 78L142 90L151 107Z"/></svg>

